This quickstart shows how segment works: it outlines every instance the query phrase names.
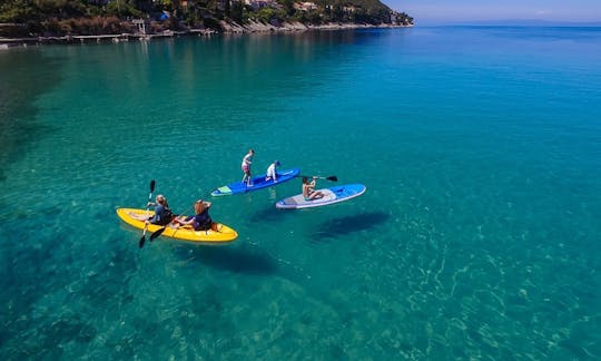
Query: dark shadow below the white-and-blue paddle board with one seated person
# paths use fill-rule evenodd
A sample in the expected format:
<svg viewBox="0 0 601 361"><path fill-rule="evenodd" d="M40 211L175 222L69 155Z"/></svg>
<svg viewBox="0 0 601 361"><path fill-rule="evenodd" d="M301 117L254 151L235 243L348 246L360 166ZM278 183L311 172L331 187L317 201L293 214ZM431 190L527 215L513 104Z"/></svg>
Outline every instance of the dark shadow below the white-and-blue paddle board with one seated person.
<svg viewBox="0 0 601 361"><path fill-rule="evenodd" d="M385 212L366 212L352 216L328 219L318 225L312 237L315 242L336 238L355 232L367 231L385 223L390 218Z"/></svg>

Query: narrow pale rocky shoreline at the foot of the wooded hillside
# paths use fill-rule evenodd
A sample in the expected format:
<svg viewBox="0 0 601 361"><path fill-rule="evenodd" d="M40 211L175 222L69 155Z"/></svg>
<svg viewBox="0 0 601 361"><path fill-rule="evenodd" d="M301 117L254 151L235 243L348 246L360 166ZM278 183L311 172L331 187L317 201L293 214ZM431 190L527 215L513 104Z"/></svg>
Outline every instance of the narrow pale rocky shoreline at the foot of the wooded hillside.
<svg viewBox="0 0 601 361"><path fill-rule="evenodd" d="M171 38L181 36L213 36L218 33L262 33L262 32L303 32L311 30L345 30L345 29L368 29L368 28L406 28L410 26L395 25L367 25L367 23L325 23L305 25L302 22L284 22L280 25L267 25L258 21L250 21L245 25L221 21L221 31L213 29L190 29L184 31L166 30L158 33L112 33L93 36L63 36L63 37L29 37L29 38L2 38L0 37L0 50L11 47L27 47L28 45L45 43L89 43L89 42L121 42L134 40L151 40L155 38Z"/></svg>

